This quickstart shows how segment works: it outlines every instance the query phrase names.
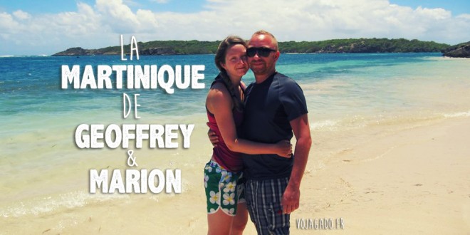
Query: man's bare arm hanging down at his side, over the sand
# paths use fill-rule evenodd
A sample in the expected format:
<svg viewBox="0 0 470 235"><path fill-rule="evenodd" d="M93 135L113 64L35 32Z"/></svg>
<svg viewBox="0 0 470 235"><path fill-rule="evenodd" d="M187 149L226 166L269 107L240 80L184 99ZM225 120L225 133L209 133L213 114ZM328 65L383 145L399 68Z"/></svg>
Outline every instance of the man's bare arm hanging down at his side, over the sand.
<svg viewBox="0 0 470 235"><path fill-rule="evenodd" d="M305 113L294 120L291 120L291 127L296 136L296 150L294 152L294 163L291 178L287 184L286 191L282 197L282 210L284 214L291 214L298 209L301 197L301 180L308 160L308 152L312 145L310 137L310 126L308 125L308 115Z"/></svg>

